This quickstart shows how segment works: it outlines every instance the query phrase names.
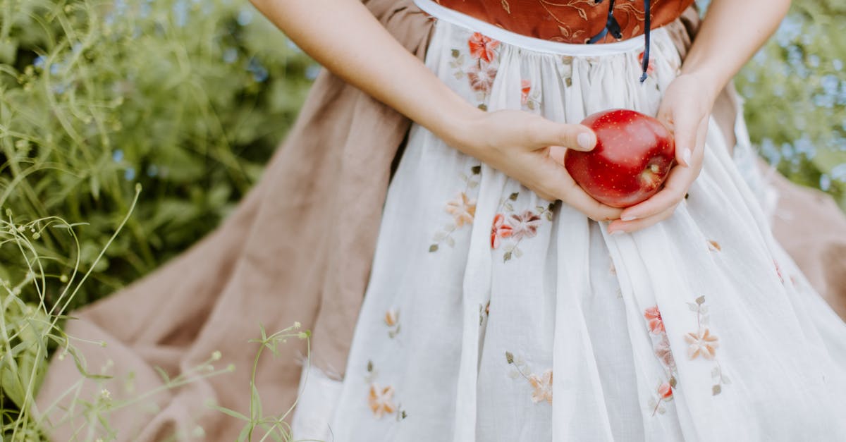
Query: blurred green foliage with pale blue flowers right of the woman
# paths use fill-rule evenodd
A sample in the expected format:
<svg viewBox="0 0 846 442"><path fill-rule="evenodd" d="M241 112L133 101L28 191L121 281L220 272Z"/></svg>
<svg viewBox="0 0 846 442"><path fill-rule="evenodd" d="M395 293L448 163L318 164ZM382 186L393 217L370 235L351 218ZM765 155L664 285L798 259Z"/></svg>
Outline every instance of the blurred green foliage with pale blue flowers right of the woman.
<svg viewBox="0 0 846 442"><path fill-rule="evenodd" d="M761 154L791 180L827 191L846 208L844 21L842 0L794 2L737 84Z"/></svg>

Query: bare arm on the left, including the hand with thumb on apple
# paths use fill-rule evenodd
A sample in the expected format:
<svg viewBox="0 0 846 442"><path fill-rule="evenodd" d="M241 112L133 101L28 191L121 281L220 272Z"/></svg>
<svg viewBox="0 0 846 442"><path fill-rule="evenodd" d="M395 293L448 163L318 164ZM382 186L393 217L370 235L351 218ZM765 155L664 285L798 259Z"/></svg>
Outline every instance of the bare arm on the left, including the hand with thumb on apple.
<svg viewBox="0 0 846 442"><path fill-rule="evenodd" d="M547 200L563 200L594 219L618 218L619 209L585 194L549 155L550 146L591 150L596 135L585 126L517 110L475 108L400 45L359 0L251 2L318 63L448 145ZM555 153L560 155L558 148Z"/></svg>

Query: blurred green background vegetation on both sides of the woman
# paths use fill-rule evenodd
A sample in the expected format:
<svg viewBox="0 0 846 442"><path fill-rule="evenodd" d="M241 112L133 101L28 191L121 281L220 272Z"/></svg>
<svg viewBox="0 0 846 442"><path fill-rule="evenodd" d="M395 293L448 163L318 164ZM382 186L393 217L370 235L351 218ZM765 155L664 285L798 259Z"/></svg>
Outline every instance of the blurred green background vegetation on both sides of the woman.
<svg viewBox="0 0 846 442"><path fill-rule="evenodd" d="M843 0L795 1L737 79L761 155L842 207L844 21ZM30 269L0 233L0 285L50 309L79 258L91 270L80 307L184 251L259 180L318 70L245 0L3 0L0 217L28 235L48 280L43 299L21 285ZM91 268L136 183L135 212ZM79 253L67 229L37 221L52 216L79 224Z"/></svg>

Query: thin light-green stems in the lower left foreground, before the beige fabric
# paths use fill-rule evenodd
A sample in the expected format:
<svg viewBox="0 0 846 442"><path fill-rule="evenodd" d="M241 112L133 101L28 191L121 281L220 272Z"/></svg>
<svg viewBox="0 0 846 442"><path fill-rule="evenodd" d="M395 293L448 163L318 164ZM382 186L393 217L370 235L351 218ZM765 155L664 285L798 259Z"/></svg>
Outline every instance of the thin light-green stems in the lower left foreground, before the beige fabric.
<svg viewBox="0 0 846 442"><path fill-rule="evenodd" d="M185 384L209 378L212 376L232 373L235 369L233 364L227 367L214 367L214 363L222 358L220 351L213 351L206 361L195 367L188 367L181 371L178 376L170 377L161 367L154 367L162 377L162 383L154 389L135 393L130 397L117 399L107 390L106 380L122 380L127 391L135 391L131 385L134 382L133 373L128 373L125 378L113 378L107 374L111 367L108 361L105 367L101 367L100 373L94 373L95 367L89 367L85 357L74 345L74 338L63 332L59 327L60 320L66 318L64 314L74 297L80 293L80 288L85 285L86 279L96 269L96 264L102 259L108 246L118 237L132 214L132 210L138 202L140 185L135 185L135 199L130 203L129 213L124 214L117 228L101 250L96 252L93 265L87 273L79 272L79 262L75 267L66 268L66 276L60 277L58 281L49 278L45 273L45 264L50 260L41 257L36 251L33 230L41 226L36 233L44 233L47 230L56 230L57 236L67 236L76 246L76 255L80 256L79 238L75 229L80 226L67 224L60 218L36 219L25 224L19 224L11 215L11 211L5 213L5 218L0 219L0 250L7 256L16 258L22 267L29 271L23 279L0 279L0 439L10 441L39 441L47 440L46 434L50 433L51 425L62 425L65 421L74 423L78 433L74 440L114 440L118 434L123 439L127 437L125 428L114 428L109 422L111 413L125 408L132 408L134 412L146 412L146 406L153 396L160 394L163 390L177 389ZM44 295L48 292L50 285L60 285L56 290L58 297L52 307L47 307ZM36 303L25 303L20 295L25 288L31 289L37 294ZM282 329L274 334L267 335L264 327L261 327L261 340L250 340L260 344L255 355L250 377L250 417L244 417L235 412L214 403L209 403L213 410L223 412L231 417L244 420L244 431L239 440L250 440L252 434L263 434L264 439L288 442L291 440L291 432L285 419L293 411L292 404L285 412L277 416L267 416L262 411L261 397L258 389L255 388L256 368L262 351L270 350L278 356L277 346L284 344L288 339L306 340L310 349L310 332L300 331L300 324L287 329ZM91 342L90 342L91 343ZM107 345L106 342L93 342L91 344ZM56 404L42 404L46 408L36 414L33 412L36 392L47 373L47 355L49 346L58 346L58 359L72 357L74 365L80 373L80 378L67 385L67 390L62 394L65 401L69 401L69 407L59 413L58 422L47 423L41 416L46 416ZM310 360L310 351L306 355ZM96 393L93 397L81 395L84 384L94 383ZM114 385L111 384L111 385ZM190 434L173 434L168 440L181 440L202 437L205 434L204 428L195 426Z"/></svg>

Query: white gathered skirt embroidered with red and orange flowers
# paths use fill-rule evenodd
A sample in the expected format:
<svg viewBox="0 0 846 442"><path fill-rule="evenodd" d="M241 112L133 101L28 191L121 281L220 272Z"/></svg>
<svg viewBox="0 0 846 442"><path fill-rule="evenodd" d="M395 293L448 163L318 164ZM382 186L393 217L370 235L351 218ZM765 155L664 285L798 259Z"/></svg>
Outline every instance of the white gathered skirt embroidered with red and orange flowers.
<svg viewBox="0 0 846 442"><path fill-rule="evenodd" d="M663 30L643 85L639 42L596 55L477 30L438 19L426 65L491 111L655 114L680 65ZM672 218L605 227L413 125L347 372L312 370L294 436L846 439L846 324L772 239L717 124Z"/></svg>

